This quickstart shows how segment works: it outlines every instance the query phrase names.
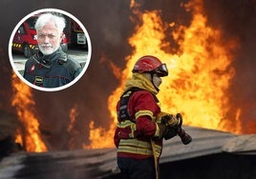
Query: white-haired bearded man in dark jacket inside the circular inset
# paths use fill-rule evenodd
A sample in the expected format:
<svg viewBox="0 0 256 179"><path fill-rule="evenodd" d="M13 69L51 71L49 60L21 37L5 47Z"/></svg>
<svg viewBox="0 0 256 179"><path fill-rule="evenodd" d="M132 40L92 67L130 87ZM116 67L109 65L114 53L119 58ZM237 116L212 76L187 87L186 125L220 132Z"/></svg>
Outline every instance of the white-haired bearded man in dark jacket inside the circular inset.
<svg viewBox="0 0 256 179"><path fill-rule="evenodd" d="M24 78L42 88L57 88L75 79L82 70L81 66L60 47L65 19L46 12L36 23L36 39L39 51L25 64Z"/></svg>

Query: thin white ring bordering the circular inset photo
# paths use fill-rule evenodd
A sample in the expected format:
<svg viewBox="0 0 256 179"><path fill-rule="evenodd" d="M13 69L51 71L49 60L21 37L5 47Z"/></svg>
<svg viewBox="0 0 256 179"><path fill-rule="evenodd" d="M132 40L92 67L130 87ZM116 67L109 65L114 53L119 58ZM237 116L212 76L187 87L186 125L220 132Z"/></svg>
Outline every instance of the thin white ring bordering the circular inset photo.
<svg viewBox="0 0 256 179"><path fill-rule="evenodd" d="M13 62L13 58L12 58L12 49L11 49L11 45L12 45L12 41L13 41L13 38L14 38L14 35L15 35L15 32L18 30L18 28L22 25L23 22L25 22L27 19L29 19L30 17L32 17L33 15L37 14L37 13L40 13L40 12L58 12L58 13L62 13L64 15L67 15L68 17L72 18L73 20L75 20L75 22L80 26L80 28L84 31L84 34L86 36L86 40L87 40L87 45L88 45L88 54L87 54L87 59L86 59L86 63L85 63L85 66L83 67L82 71L78 74L78 76L75 77L75 79L62 86L62 87L57 87L57 88L42 88L42 87L38 87L36 85L33 85L32 83L30 83L29 81L27 81L22 75L21 73L16 70L16 67L14 65L14 62ZM12 67L12 70L15 71L16 75L24 82L26 83L28 86L32 87L33 89L38 89L38 90L43 90L43 91L57 91L57 90L61 90L61 89L67 89L69 87L71 87L72 85L74 85L81 77L82 75L84 74L84 72L87 70L89 64L90 64L90 61L91 61L91 56L92 56L92 44L91 44L91 39L90 39L90 36L88 34L88 31L84 28L83 24L74 16L72 15L71 13L67 12L67 11L64 11L64 10L58 10L58 9L42 9L42 10L35 10L33 11L32 13L26 15L17 25L16 27L14 28L14 30L12 30L12 33L11 33L11 38L10 38L10 41L9 41L9 59L10 59L10 62L11 62L11 67Z"/></svg>

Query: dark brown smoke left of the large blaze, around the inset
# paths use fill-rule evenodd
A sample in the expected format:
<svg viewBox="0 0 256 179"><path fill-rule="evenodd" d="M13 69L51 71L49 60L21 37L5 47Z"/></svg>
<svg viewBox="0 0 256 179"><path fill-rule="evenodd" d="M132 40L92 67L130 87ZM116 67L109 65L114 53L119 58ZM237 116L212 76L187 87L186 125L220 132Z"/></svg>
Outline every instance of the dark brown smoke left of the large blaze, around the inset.
<svg viewBox="0 0 256 179"><path fill-rule="evenodd" d="M40 129L48 137L53 149L68 149L67 143L71 137L74 137L67 132L69 115L70 110L76 107L74 128L80 133L76 136L76 148L81 148L80 141L88 142L90 121L95 121L96 126L106 128L111 123L107 100L117 87L118 81L109 69L108 62L102 62L100 59L104 56L109 61L114 61L117 66L124 66L124 57L130 53L126 39L133 31L131 30L133 26L128 23L130 1L110 0L107 3L100 0L73 1L71 5L68 0L54 2L27 0L22 2L24 7L22 9L14 1L3 1L1 4L2 22L9 22L6 26L2 26L1 30L4 33L1 35L3 52L1 52L0 68L1 76L6 76L4 81L1 81L3 89L1 101L5 102L1 109L11 109L11 65L8 58L8 42L11 31L23 17L33 10L44 8L66 10L75 15L88 30L93 54L84 76L70 89L58 92L32 90ZM6 95L7 91L9 91L8 95ZM12 111L14 112L14 109Z"/></svg>

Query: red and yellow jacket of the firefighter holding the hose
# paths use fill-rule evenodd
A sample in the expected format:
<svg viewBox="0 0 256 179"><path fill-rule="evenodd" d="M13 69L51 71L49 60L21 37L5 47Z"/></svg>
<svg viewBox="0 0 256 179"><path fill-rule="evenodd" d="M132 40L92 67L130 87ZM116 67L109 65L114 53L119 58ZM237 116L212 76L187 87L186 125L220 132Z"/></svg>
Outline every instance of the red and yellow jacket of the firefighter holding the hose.
<svg viewBox="0 0 256 179"><path fill-rule="evenodd" d="M118 117L114 142L117 147L118 157L131 157L143 159L153 156L151 140L155 140L154 153L160 157L162 139L158 139L160 129L156 124L156 116L160 107L156 94L158 90L144 76L133 73L127 80L124 91L139 88L129 96L127 109L130 119L123 120ZM120 101L117 103L117 113L120 111Z"/></svg>

